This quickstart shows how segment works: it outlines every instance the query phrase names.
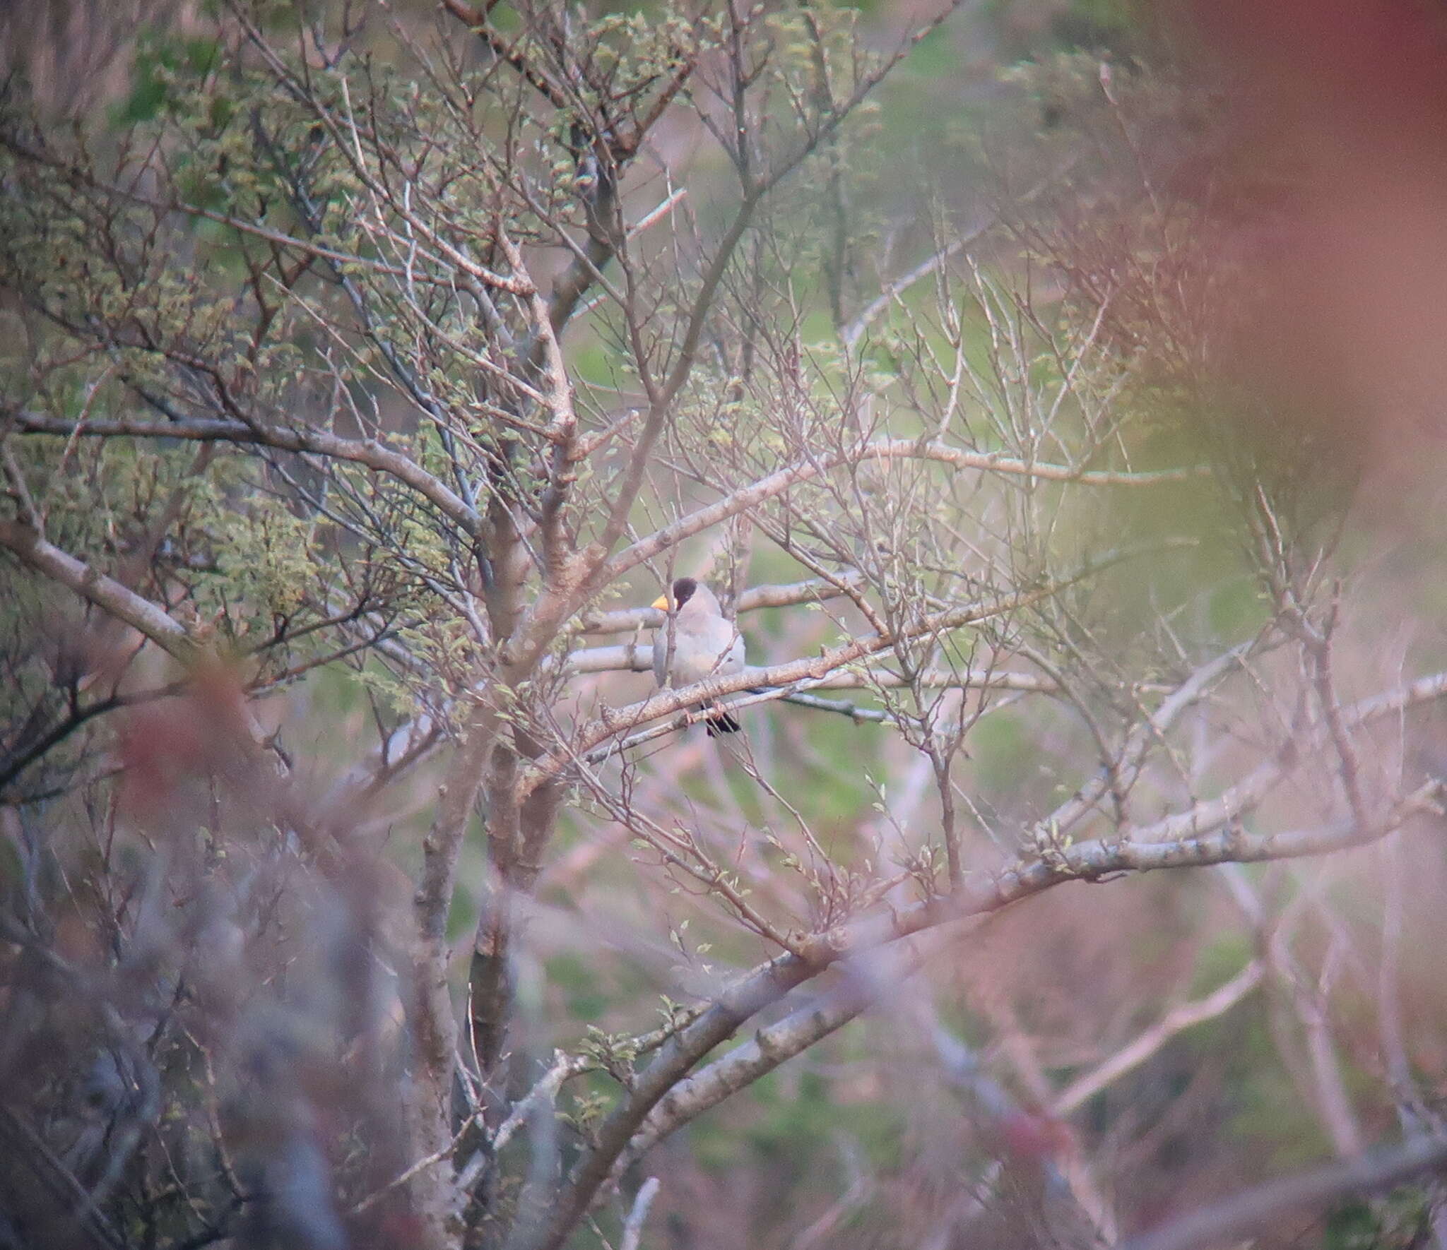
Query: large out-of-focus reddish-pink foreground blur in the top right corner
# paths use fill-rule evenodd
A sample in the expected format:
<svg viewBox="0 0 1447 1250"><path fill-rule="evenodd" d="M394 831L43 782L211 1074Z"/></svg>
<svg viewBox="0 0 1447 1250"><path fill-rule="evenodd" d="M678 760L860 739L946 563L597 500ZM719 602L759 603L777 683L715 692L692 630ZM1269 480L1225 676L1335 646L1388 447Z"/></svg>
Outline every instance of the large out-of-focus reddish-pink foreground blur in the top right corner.
<svg viewBox="0 0 1447 1250"><path fill-rule="evenodd" d="M1184 0L1227 85L1242 379L1369 470L1447 435L1447 14L1412 0Z"/></svg>

